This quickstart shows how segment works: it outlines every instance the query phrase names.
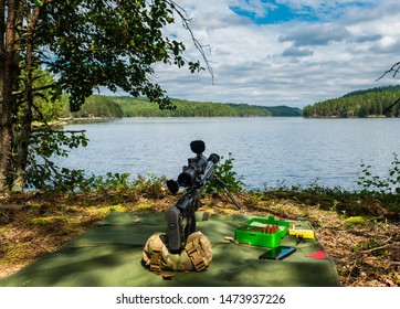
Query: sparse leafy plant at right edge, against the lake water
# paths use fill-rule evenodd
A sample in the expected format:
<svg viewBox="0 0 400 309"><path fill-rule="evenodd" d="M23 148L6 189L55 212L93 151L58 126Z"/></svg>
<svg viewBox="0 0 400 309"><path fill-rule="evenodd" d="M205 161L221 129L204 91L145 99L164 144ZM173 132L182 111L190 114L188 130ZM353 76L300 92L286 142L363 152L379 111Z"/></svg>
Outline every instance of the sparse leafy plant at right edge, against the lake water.
<svg viewBox="0 0 400 309"><path fill-rule="evenodd" d="M400 160L394 153L394 159L390 163L387 178L373 175L371 172L371 166L361 163L361 174L358 177L358 185L362 188L364 193L370 193L375 195L379 194L400 194Z"/></svg>

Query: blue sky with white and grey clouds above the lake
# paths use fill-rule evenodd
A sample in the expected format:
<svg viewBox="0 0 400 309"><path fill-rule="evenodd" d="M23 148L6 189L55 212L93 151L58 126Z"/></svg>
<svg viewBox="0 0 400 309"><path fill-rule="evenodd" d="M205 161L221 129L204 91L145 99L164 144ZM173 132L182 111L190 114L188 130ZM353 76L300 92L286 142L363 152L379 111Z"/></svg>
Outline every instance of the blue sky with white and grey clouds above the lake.
<svg viewBox="0 0 400 309"><path fill-rule="evenodd" d="M400 61L398 0L178 0L204 46L204 71L157 65L170 97L304 107L346 93L397 84L376 79ZM178 21L166 30L201 58Z"/></svg>

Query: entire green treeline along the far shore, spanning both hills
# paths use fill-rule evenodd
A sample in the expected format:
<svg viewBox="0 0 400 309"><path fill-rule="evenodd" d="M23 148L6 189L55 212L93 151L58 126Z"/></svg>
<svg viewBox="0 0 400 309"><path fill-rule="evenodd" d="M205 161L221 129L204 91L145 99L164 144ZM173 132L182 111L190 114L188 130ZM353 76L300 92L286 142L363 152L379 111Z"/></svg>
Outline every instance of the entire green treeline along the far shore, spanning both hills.
<svg viewBox="0 0 400 309"><path fill-rule="evenodd" d="M70 113L63 97L55 118L122 118L122 117L306 117L367 118L400 117L400 86L377 87L348 93L303 108L257 106L171 99L176 109L161 110L145 97L93 95L81 110ZM54 108L53 108L54 111Z"/></svg>

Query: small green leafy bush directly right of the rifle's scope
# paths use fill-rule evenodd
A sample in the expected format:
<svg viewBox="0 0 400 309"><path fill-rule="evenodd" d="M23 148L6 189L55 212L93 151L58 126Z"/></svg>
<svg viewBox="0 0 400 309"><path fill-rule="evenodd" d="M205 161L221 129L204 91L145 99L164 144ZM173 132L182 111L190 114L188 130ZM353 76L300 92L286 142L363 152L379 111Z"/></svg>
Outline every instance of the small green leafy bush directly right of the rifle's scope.
<svg viewBox="0 0 400 309"><path fill-rule="evenodd" d="M234 158L232 153L229 153L229 157L221 161L214 167L215 175L227 184L227 189L231 193L239 193L243 191L244 182L242 181L242 177L238 177L238 173L233 170L233 161ZM222 189L215 182L210 182L207 188L207 192L221 192Z"/></svg>

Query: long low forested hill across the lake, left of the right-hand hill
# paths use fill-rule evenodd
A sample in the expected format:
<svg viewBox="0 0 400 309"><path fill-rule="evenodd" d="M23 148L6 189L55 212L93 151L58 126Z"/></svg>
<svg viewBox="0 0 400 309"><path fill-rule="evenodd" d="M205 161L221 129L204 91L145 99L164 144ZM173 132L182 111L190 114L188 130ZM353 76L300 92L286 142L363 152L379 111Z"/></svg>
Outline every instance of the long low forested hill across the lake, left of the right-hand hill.
<svg viewBox="0 0 400 309"><path fill-rule="evenodd" d="M124 117L299 117L299 108L287 106L255 106L249 104L223 104L171 99L175 110L160 110L147 98L114 97L109 99L119 105Z"/></svg>

